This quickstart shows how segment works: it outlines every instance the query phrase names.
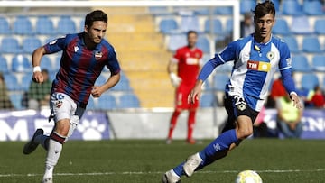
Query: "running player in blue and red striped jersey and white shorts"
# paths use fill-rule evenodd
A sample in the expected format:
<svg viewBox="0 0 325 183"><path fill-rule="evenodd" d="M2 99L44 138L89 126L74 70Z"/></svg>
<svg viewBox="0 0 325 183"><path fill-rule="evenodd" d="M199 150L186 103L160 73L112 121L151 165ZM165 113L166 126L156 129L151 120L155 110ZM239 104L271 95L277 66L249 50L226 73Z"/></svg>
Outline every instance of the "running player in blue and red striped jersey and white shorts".
<svg viewBox="0 0 325 183"><path fill-rule="evenodd" d="M93 11L86 15L84 32L67 34L32 53L32 79L42 83L42 56L62 50L60 69L51 87L50 107L54 128L50 136L37 129L32 140L23 147L24 154L30 154L39 144L47 151L42 182L52 182L53 169L62 146L79 124L89 96L99 97L119 81L119 63L113 46L104 40L106 31L107 14L100 10ZM104 67L110 70L110 78L103 85L94 86Z"/></svg>

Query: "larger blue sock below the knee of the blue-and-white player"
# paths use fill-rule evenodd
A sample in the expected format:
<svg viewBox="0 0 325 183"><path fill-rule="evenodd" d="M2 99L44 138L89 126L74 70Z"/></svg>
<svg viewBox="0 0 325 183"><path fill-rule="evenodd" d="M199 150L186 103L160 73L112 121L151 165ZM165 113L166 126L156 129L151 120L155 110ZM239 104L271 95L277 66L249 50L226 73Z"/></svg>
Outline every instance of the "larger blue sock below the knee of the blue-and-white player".
<svg viewBox="0 0 325 183"><path fill-rule="evenodd" d="M228 150L231 143L237 142L236 130L228 130L221 133L217 139L211 142L203 151L200 151L200 157L203 161L209 160L219 151Z"/></svg>

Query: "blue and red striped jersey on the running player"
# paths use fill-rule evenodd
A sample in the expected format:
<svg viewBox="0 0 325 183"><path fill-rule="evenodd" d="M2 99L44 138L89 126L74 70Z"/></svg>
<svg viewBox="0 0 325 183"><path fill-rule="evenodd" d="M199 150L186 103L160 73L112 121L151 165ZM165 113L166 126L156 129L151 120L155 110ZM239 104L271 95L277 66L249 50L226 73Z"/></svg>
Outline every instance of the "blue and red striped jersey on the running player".
<svg viewBox="0 0 325 183"><path fill-rule="evenodd" d="M91 87L104 67L115 75L120 66L110 43L103 39L95 50L88 50L83 37L84 32L67 34L45 44L44 49L47 54L62 51L60 69L53 80L51 93L64 93L77 105L86 106Z"/></svg>

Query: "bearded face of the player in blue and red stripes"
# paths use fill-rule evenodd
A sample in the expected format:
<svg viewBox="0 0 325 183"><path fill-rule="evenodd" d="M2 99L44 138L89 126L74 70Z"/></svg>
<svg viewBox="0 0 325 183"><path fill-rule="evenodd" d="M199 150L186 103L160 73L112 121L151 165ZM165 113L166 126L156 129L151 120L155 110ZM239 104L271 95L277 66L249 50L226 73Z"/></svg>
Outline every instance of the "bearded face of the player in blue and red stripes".
<svg viewBox="0 0 325 183"><path fill-rule="evenodd" d="M107 31L107 23L103 21L95 21L90 27L86 25L85 32L88 34L89 41L96 44L104 38Z"/></svg>

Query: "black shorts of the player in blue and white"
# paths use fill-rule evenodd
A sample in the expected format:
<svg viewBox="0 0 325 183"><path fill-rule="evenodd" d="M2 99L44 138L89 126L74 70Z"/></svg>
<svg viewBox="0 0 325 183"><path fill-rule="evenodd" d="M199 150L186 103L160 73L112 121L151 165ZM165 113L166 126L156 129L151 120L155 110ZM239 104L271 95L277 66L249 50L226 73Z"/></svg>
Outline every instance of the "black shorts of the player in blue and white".
<svg viewBox="0 0 325 183"><path fill-rule="evenodd" d="M258 112L247 104L244 96L226 96L224 104L228 113L228 119L222 132L235 129L236 119L240 115L246 115L251 118L252 123L255 122Z"/></svg>

